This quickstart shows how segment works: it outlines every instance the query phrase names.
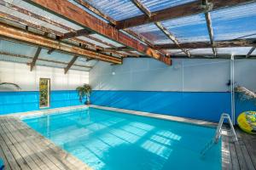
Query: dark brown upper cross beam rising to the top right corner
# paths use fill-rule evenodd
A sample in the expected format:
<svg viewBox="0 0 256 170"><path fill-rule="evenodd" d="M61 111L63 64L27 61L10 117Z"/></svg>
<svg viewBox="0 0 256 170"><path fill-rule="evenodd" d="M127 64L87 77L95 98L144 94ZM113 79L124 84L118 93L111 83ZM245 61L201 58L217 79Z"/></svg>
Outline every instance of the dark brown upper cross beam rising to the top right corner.
<svg viewBox="0 0 256 170"><path fill-rule="evenodd" d="M250 3L253 0L229 0L229 1L221 1L221 0L209 0L209 3L212 3L212 10L216 10L218 8L232 7L239 5L241 3ZM176 7L165 8L159 11L152 13L151 17L148 18L147 14L142 14L139 16L132 17L130 19L119 20L116 22L116 27L118 29L125 29L132 26L142 26L148 23L160 22L162 20L171 20L176 19L183 16L200 14L204 13L205 9L201 8L201 0L196 0L192 3L185 3Z"/></svg>

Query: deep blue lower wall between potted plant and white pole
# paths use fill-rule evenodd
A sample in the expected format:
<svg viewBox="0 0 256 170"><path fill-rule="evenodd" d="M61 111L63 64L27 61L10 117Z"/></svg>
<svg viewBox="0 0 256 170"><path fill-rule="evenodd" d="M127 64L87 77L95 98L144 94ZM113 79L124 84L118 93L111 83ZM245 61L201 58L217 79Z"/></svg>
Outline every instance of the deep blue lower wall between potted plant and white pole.
<svg viewBox="0 0 256 170"><path fill-rule="evenodd" d="M230 113L230 93L160 92L95 90L93 105L133 111L147 111L218 122L223 112Z"/></svg>

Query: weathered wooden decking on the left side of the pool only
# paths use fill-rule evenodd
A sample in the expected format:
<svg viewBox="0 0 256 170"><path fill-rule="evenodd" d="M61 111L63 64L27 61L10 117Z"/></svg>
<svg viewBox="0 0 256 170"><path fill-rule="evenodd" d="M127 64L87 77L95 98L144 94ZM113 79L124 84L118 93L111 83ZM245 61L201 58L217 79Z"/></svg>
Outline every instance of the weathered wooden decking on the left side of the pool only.
<svg viewBox="0 0 256 170"><path fill-rule="evenodd" d="M0 156L6 170L90 169L17 117L0 117Z"/></svg>

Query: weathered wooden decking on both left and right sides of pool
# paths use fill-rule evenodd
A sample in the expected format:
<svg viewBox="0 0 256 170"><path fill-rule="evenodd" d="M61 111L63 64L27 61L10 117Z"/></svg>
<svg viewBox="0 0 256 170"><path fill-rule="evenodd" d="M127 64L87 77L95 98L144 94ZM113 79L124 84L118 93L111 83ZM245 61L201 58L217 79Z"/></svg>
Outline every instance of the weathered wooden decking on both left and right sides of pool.
<svg viewBox="0 0 256 170"><path fill-rule="evenodd" d="M228 132L226 132L228 135ZM236 128L238 142L222 140L223 169L256 169L256 136ZM15 116L0 116L0 156L6 169L90 169Z"/></svg>

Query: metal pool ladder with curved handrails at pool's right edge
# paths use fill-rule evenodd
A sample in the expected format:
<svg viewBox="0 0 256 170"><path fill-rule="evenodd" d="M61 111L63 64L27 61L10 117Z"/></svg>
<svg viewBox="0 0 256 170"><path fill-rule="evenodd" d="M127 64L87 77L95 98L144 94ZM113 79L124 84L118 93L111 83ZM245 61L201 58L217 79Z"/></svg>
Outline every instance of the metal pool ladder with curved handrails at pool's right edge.
<svg viewBox="0 0 256 170"><path fill-rule="evenodd" d="M230 115L223 113L219 119L218 127L217 127L216 133L214 135L214 138L212 138L212 140L210 142L208 142L206 144L206 146L201 150L201 152L200 152L201 156L205 156L207 151L210 150L214 144L218 144L218 140L220 139L220 137L222 135L222 126L224 123L224 119L227 119L230 124L230 131L231 131L231 133L233 133L233 136L235 137L234 141L236 142L238 140L237 136L236 136L236 131L233 127L233 123L231 122L231 119L230 119Z"/></svg>

